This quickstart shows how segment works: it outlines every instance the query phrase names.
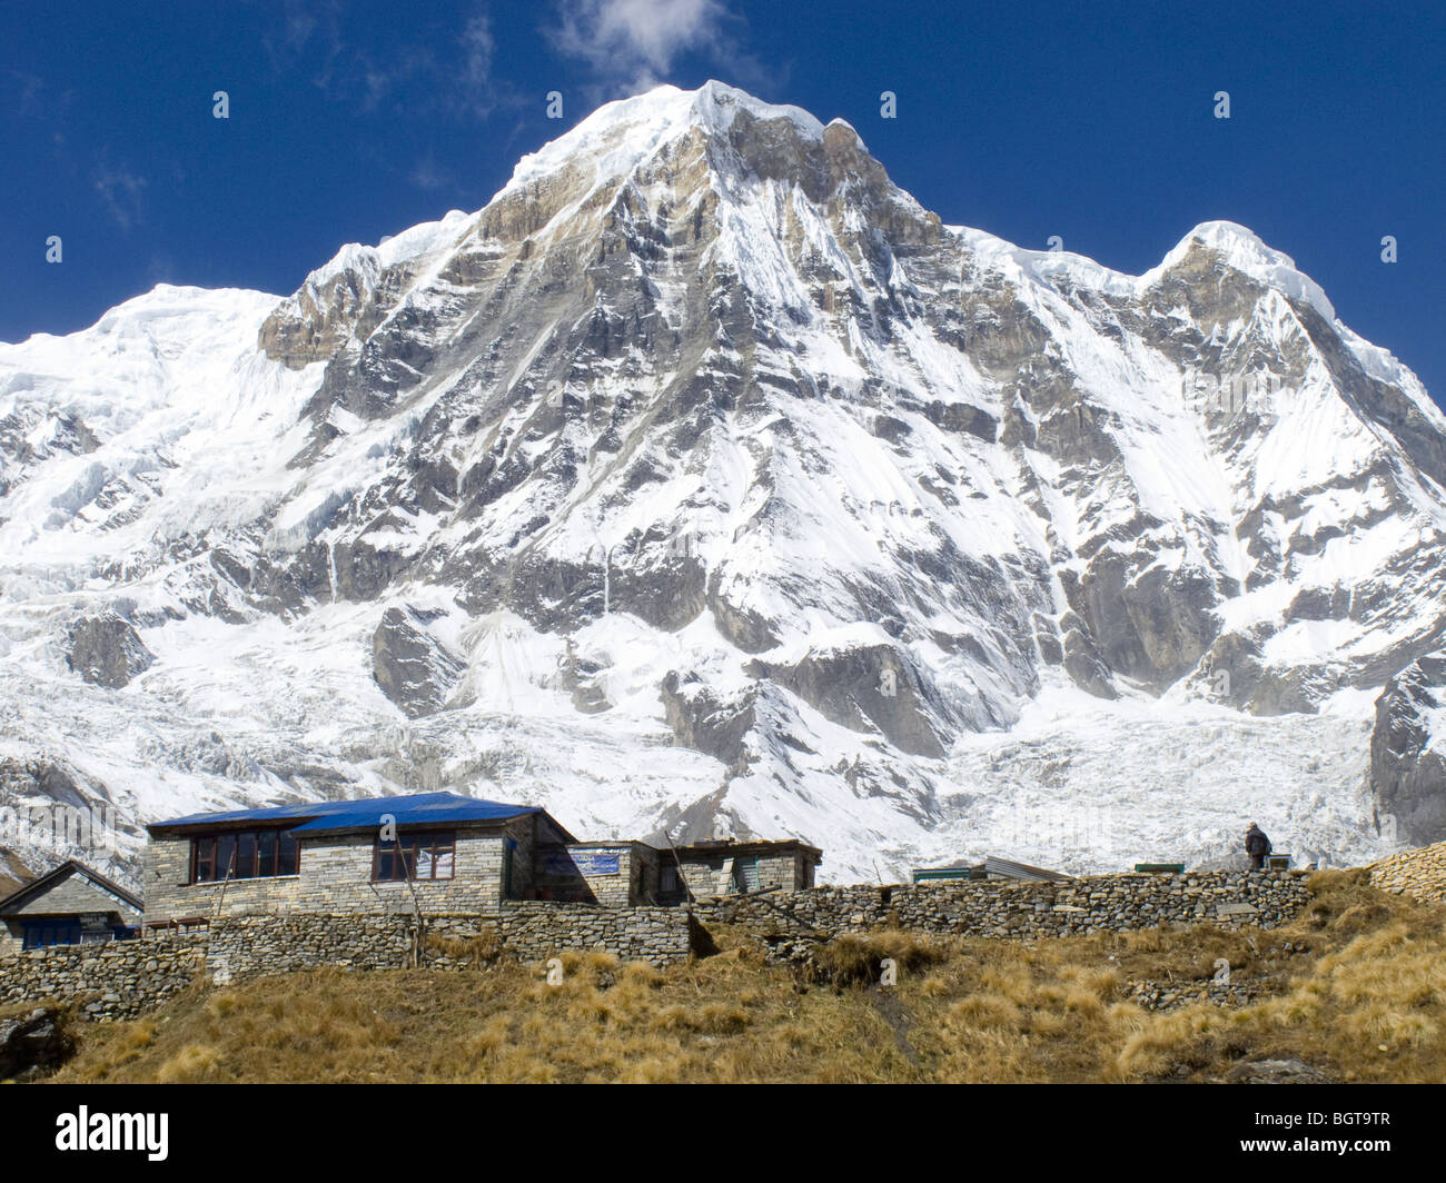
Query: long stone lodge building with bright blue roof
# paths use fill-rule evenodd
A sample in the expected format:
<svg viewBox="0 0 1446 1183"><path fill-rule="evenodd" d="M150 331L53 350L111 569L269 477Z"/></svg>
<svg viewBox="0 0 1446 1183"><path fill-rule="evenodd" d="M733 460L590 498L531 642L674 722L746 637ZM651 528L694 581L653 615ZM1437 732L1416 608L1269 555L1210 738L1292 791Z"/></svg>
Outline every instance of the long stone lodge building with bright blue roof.
<svg viewBox="0 0 1446 1183"><path fill-rule="evenodd" d="M257 913L496 915L506 901L677 904L813 887L797 840L578 842L536 806L454 793L201 813L147 827L147 926Z"/></svg>

